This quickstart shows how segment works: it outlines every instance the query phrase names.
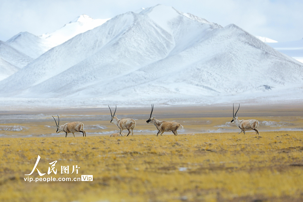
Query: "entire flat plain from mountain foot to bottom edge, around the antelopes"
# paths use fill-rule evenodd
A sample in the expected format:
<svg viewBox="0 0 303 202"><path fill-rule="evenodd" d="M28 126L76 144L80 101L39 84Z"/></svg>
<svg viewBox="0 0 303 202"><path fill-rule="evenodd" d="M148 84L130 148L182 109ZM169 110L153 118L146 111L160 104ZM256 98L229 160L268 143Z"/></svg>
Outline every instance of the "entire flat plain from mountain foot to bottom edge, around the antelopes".
<svg viewBox="0 0 303 202"><path fill-rule="evenodd" d="M184 126L176 137L156 137L145 122L149 110L117 108L118 118L136 119L132 137L108 137L118 130L105 108L2 111L0 201L303 201L301 105L240 108L240 119L259 120L260 136L238 135L229 124L232 108L215 106L155 108L159 120ZM55 114L60 124L83 122L87 137L55 134ZM93 181L29 182L40 178L37 170L25 176L38 155L42 178L93 175ZM53 161L57 174L48 175ZM67 165L69 174L61 174ZM78 174L71 174L75 165Z"/></svg>

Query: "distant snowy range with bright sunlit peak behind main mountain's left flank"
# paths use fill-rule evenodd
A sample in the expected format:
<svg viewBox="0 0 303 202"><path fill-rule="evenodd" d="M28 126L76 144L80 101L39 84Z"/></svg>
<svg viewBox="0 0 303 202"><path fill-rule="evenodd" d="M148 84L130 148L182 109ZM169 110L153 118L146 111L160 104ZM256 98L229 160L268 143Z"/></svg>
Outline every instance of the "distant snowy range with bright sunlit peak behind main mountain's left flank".
<svg viewBox="0 0 303 202"><path fill-rule="evenodd" d="M20 32L7 41L0 42L0 80L17 72L51 48L68 41L75 35L91 30L108 19L92 19L80 15L62 28L41 36Z"/></svg>

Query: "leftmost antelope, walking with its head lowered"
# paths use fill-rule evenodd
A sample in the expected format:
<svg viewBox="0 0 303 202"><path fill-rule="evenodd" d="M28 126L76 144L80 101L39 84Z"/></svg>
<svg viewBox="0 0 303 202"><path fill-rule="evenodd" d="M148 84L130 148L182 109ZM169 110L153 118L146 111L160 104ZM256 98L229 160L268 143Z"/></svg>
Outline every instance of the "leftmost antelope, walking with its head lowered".
<svg viewBox="0 0 303 202"><path fill-rule="evenodd" d="M57 116L58 116L58 114L57 114ZM60 126L59 125L60 124L59 116L58 116L58 124L57 124L57 121L55 118L54 118L54 120L57 125L57 133L65 132L65 137L67 136L68 133L72 133L73 136L75 137L75 132L82 132L83 137L84 137L84 135L86 137L85 130L83 130L84 124L82 124L81 122L71 122L71 123L66 123L66 124Z"/></svg>

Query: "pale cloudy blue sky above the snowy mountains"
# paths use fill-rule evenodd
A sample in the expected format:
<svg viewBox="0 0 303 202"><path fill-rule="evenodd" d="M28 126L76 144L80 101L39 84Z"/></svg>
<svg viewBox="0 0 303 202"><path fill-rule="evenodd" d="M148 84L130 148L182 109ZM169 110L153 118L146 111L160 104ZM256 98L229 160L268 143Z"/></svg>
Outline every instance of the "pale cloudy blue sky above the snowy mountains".
<svg viewBox="0 0 303 202"><path fill-rule="evenodd" d="M222 26L233 23L252 35L276 41L303 38L302 0L0 0L0 40L22 31L52 32L82 14L105 19L157 4Z"/></svg>

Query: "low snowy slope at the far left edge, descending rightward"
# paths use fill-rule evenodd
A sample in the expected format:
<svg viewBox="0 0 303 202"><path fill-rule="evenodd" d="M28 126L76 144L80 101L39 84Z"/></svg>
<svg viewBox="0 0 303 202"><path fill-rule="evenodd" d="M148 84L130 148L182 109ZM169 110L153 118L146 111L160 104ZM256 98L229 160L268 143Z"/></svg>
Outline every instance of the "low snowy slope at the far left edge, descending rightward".
<svg viewBox="0 0 303 202"><path fill-rule="evenodd" d="M31 61L32 58L0 41L0 80L14 74Z"/></svg>

